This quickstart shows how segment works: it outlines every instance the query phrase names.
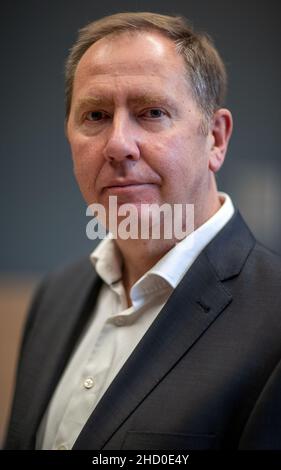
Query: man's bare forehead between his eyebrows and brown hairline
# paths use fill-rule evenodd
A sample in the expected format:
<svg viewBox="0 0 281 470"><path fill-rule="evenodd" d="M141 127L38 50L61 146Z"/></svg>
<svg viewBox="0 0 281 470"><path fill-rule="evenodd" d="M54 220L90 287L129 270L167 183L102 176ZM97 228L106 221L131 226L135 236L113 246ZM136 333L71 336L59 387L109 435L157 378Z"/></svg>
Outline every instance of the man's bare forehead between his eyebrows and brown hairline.
<svg viewBox="0 0 281 470"><path fill-rule="evenodd" d="M87 49L75 72L73 92L90 82L105 87L167 83L172 92L176 82L186 86L186 77L183 57L169 38L157 32L122 33L106 36Z"/></svg>

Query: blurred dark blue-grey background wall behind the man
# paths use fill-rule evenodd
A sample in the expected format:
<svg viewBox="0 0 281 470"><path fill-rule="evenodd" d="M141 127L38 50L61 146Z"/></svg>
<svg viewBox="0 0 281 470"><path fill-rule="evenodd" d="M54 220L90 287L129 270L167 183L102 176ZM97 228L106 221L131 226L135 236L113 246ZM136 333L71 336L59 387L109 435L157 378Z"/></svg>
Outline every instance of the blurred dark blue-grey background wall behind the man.
<svg viewBox="0 0 281 470"><path fill-rule="evenodd" d="M281 252L279 2L6 2L0 20L0 439L32 290L47 271L93 249L64 136L67 52L80 27L129 10L183 14L215 40L227 65L227 106L234 116L219 187L257 237Z"/></svg>

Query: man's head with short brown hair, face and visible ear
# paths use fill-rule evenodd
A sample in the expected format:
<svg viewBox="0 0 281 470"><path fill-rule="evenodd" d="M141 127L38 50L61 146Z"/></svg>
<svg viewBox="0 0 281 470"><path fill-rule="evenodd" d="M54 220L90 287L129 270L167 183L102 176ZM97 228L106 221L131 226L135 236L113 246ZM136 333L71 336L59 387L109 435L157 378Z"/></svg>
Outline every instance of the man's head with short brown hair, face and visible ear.
<svg viewBox="0 0 281 470"><path fill-rule="evenodd" d="M148 21L170 24L169 34ZM205 37L177 18L113 15L82 30L67 77L67 135L88 204L107 208L110 195L137 206L189 203L196 225L218 209L214 173L232 121L221 108L224 67Z"/></svg>

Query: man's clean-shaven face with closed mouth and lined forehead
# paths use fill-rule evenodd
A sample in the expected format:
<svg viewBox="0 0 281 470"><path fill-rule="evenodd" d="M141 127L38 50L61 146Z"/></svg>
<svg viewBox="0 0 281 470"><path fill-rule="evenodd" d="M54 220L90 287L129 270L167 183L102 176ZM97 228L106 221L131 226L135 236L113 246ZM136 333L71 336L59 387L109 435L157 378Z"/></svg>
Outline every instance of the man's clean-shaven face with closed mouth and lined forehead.
<svg viewBox="0 0 281 470"><path fill-rule="evenodd" d="M88 204L193 203L210 186L211 134L192 97L183 58L161 34L105 37L75 73L67 133Z"/></svg>

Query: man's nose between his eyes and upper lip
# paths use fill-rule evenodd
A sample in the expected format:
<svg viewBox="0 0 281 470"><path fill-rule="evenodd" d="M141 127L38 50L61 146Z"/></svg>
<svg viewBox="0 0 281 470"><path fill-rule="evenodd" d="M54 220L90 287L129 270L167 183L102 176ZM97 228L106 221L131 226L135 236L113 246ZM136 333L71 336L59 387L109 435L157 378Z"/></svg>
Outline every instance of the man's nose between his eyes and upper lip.
<svg viewBox="0 0 281 470"><path fill-rule="evenodd" d="M108 138L103 150L104 157L111 163L137 161L140 150L137 143L136 129L125 112L115 113Z"/></svg>

